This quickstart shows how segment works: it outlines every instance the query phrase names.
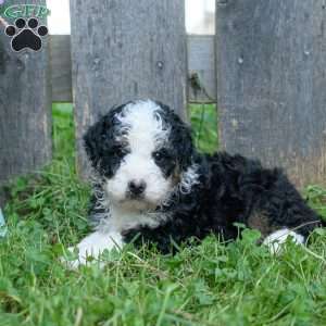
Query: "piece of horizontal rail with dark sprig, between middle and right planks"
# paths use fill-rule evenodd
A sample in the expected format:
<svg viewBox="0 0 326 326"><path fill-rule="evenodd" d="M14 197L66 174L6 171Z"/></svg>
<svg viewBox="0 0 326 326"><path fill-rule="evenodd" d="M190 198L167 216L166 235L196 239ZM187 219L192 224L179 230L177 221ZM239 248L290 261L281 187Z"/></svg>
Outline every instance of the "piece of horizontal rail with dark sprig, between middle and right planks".
<svg viewBox="0 0 326 326"><path fill-rule="evenodd" d="M215 37L188 36L188 101L216 102Z"/></svg>

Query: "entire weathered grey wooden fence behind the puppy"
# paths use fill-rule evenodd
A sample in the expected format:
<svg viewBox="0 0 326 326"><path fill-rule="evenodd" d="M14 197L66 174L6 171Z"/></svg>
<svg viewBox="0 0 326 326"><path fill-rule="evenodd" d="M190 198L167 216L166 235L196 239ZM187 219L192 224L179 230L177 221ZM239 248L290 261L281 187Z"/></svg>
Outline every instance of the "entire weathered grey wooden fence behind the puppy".
<svg viewBox="0 0 326 326"><path fill-rule="evenodd" d="M0 183L49 162L51 102L74 102L83 174L86 128L137 98L184 118L187 102L217 102L222 149L284 166L298 186L325 183L325 8L217 0L216 35L187 36L184 0L71 0L72 35L39 53L13 53L1 32Z"/></svg>

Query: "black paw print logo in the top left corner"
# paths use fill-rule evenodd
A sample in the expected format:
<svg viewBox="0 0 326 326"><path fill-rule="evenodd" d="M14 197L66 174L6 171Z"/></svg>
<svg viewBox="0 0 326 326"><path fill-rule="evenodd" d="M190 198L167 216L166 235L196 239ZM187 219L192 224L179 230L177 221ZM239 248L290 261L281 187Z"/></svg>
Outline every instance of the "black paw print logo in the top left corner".
<svg viewBox="0 0 326 326"><path fill-rule="evenodd" d="M47 36L48 27L39 26L37 18L29 18L27 24L24 18L17 18L14 25L9 25L5 28L5 34L12 37L11 48L15 52L24 49L39 51L42 48L41 37Z"/></svg>

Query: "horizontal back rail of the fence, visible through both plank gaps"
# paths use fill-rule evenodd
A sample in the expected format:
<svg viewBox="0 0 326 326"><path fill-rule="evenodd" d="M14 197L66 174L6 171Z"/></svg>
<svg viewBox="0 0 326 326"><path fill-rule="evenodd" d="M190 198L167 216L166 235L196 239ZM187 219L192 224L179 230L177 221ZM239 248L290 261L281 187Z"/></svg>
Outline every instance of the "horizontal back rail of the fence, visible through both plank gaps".
<svg viewBox="0 0 326 326"><path fill-rule="evenodd" d="M216 102L215 36L188 35L188 102ZM72 102L71 36L51 36L53 102ZM202 86L198 88L199 84Z"/></svg>

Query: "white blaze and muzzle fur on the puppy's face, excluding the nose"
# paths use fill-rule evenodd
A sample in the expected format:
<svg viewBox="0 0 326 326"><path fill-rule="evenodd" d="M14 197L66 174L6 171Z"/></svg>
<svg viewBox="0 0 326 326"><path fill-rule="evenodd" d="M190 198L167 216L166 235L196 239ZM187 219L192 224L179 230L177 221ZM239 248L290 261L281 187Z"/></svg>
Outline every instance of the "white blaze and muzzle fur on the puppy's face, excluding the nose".
<svg viewBox="0 0 326 326"><path fill-rule="evenodd" d="M142 206L142 210L152 210L172 189L172 179L164 176L153 158L153 152L167 142L171 130L170 125L162 121L161 113L162 109L156 103L138 101L127 104L116 115L121 123L116 140L127 143L128 152L114 176L108 179L105 191L112 202L125 204L125 209L140 211ZM137 205L133 201L127 202L131 180L146 183L143 199Z"/></svg>

